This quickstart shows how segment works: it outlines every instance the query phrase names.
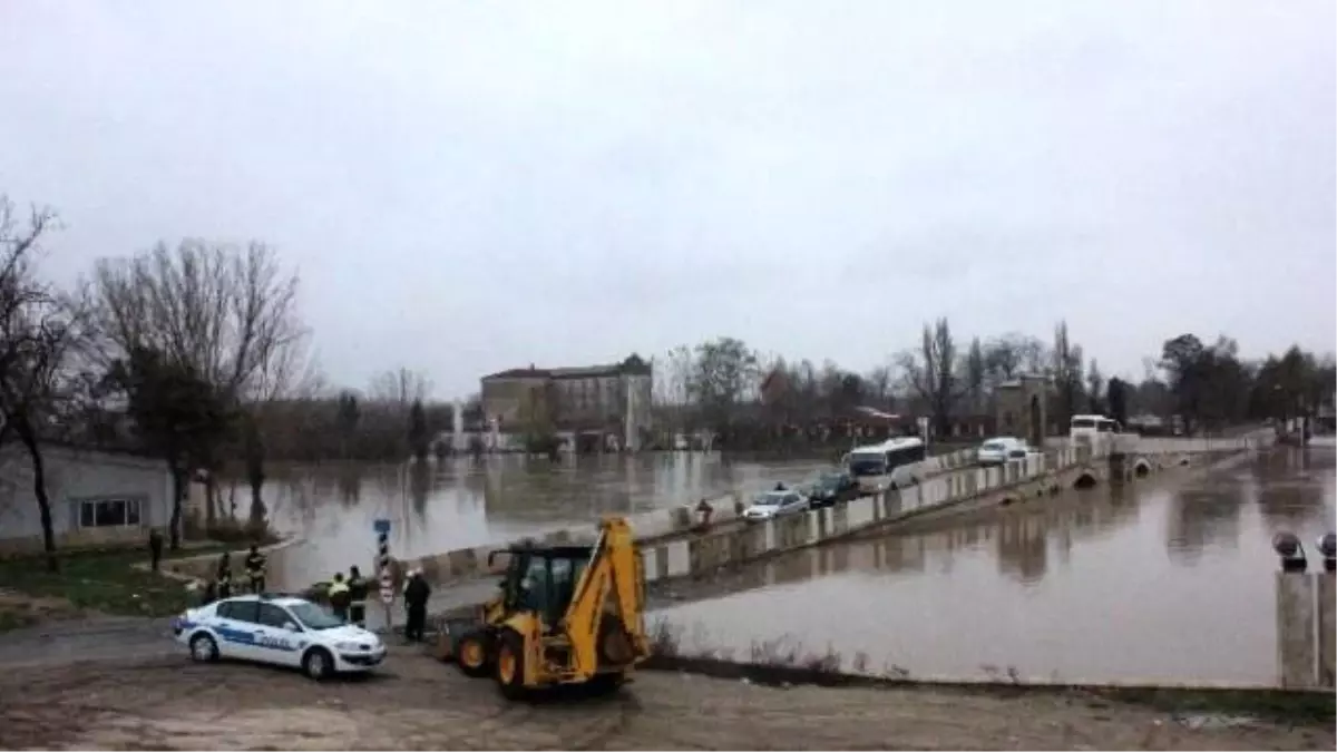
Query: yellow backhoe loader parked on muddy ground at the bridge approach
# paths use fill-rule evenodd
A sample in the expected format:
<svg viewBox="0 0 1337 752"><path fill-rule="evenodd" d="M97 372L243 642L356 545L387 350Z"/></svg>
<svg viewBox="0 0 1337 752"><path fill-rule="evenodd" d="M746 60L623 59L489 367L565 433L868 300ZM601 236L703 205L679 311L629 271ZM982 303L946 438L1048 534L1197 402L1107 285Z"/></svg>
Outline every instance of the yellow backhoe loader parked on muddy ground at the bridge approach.
<svg viewBox="0 0 1337 752"><path fill-rule="evenodd" d="M445 653L468 676L492 674L501 694L584 684L622 685L650 654L644 573L626 519L599 523L592 546L515 546L501 593L479 618L445 626Z"/></svg>

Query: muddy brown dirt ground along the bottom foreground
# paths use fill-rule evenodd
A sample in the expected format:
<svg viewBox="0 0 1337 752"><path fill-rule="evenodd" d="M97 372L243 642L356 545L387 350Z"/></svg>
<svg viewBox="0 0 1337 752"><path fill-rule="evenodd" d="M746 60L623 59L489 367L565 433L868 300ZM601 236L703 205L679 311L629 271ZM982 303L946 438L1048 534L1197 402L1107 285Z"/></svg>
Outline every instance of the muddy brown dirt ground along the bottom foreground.
<svg viewBox="0 0 1337 752"><path fill-rule="evenodd" d="M396 652L364 680L312 682L180 657L0 674L3 749L959 749L1290 752L1337 729L1175 717L1086 696L1013 698L763 688L642 672L612 697L508 704L488 680Z"/></svg>

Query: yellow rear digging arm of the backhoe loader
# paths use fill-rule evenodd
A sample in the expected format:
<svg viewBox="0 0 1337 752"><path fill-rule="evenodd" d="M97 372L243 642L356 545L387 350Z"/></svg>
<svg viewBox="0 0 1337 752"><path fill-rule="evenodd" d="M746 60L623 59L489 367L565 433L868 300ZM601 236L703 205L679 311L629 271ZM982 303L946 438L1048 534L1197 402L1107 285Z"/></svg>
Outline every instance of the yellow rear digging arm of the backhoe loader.
<svg viewBox="0 0 1337 752"><path fill-rule="evenodd" d="M622 518L604 519L590 563L576 581L562 625L571 641L574 673L587 680L599 668L604 603L612 594L634 661L650 652L644 621L644 575L631 527Z"/></svg>

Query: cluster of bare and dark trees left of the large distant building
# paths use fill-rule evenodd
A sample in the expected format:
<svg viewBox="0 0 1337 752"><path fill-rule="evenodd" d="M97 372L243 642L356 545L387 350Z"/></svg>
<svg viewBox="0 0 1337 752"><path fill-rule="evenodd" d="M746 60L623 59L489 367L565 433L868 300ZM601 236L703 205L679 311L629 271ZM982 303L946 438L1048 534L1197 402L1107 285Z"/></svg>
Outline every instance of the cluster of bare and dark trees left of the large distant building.
<svg viewBox="0 0 1337 752"><path fill-rule="evenodd" d="M0 448L28 460L51 569L44 450L53 444L160 458L172 478L170 545L179 547L197 474L214 526L214 479L241 468L251 488L247 531L258 534L266 462L277 454L349 456L376 446L396 459L424 455L433 421L449 420L425 404L427 379L408 369L366 392L329 389L308 349L298 277L262 242L160 242L102 258L62 289L39 269L57 227L52 210L0 197Z"/></svg>

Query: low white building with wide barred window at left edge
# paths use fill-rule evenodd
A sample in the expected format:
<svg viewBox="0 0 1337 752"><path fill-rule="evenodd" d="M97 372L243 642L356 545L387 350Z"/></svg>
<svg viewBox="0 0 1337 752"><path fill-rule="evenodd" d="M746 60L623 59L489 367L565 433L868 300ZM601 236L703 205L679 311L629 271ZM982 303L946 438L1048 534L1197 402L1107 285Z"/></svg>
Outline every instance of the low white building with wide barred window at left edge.
<svg viewBox="0 0 1337 752"><path fill-rule="evenodd" d="M167 463L66 444L47 444L43 459L59 547L144 543L150 527L171 523ZM32 464L17 442L8 442L0 447L0 554L41 546Z"/></svg>

